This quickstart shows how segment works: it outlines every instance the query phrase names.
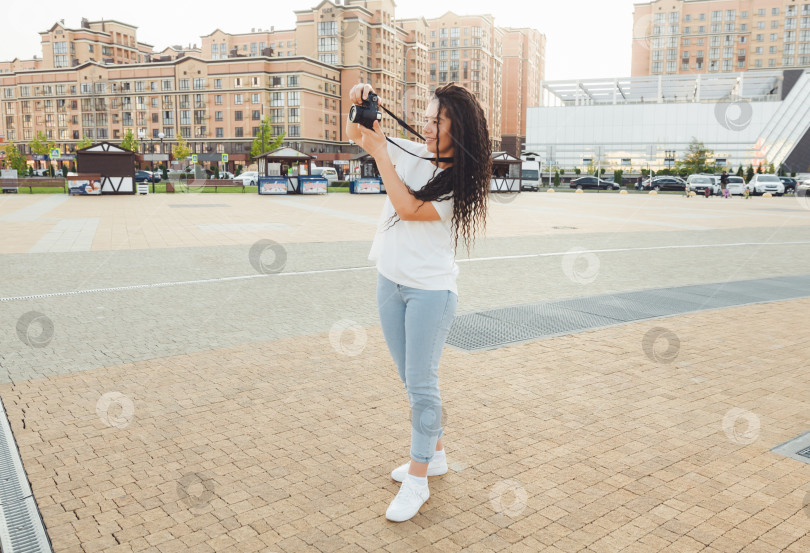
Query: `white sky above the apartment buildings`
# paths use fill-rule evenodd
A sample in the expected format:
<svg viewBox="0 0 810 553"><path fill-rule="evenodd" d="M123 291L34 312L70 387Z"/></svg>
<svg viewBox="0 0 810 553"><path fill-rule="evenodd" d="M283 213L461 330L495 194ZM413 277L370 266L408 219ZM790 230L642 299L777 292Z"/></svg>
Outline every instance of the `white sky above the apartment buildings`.
<svg viewBox="0 0 810 553"><path fill-rule="evenodd" d="M136 25L138 40L156 51L173 44L201 43L200 36L216 28L229 33L252 27L292 29L295 10L318 5L317 0L255 0L172 2L139 0L41 0L5 2L0 23L0 60L41 56L39 33L64 19L78 27L90 21L116 19ZM231 8L230 6L233 6ZM630 75L633 0L400 0L396 17L438 17L489 13L499 27L533 27L546 35L546 78L550 80L624 77Z"/></svg>

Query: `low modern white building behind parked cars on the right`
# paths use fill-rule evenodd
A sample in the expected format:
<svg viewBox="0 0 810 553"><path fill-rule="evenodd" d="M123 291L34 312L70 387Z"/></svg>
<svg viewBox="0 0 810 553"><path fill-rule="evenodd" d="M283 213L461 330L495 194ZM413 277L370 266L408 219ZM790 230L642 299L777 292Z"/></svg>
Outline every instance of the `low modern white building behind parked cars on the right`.
<svg viewBox="0 0 810 553"><path fill-rule="evenodd" d="M752 71L542 83L527 151L566 170L660 170L697 139L721 166L810 171L810 72Z"/></svg>

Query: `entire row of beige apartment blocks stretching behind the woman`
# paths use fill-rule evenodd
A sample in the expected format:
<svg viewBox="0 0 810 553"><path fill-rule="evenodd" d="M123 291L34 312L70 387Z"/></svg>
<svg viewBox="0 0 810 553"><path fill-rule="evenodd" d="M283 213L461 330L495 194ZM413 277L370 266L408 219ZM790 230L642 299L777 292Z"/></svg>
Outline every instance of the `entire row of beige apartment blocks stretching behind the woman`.
<svg viewBox="0 0 810 553"><path fill-rule="evenodd" d="M394 9L393 0L324 0L296 12L295 29L216 29L200 48L161 52L138 42L131 25L83 20L69 29L59 22L40 33L41 59L0 63L0 140L30 154L41 131L71 152L82 137L118 141L131 130L147 137L142 151L149 142L159 149L161 133L168 151L180 134L194 153L228 153L245 163L269 116L273 136L284 134L285 145L329 163L358 151L343 133L354 84L370 82L383 105L418 130L431 90L451 80L481 101L495 149L502 132L525 133L522 114L543 75L542 35L499 29L491 16L397 20ZM510 46L517 69L506 78L521 83L517 101L506 103L505 40L520 43ZM389 135L403 132L390 117L382 126Z"/></svg>

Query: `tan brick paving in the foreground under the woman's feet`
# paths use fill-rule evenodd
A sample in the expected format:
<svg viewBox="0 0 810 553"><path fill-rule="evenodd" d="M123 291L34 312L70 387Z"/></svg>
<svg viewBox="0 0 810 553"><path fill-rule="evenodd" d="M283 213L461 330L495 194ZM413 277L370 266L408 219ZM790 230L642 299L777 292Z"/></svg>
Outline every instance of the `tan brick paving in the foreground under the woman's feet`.
<svg viewBox="0 0 810 553"><path fill-rule="evenodd" d="M354 357L314 335L0 394L58 553L804 552L810 466L769 450L810 424L808 313L796 300L446 349L451 470L402 524L383 513L407 401L379 328ZM653 326L681 340L673 363L645 356ZM116 403L97 414L111 392L131 420ZM745 424L723 427L734 408L760 424L750 444Z"/></svg>

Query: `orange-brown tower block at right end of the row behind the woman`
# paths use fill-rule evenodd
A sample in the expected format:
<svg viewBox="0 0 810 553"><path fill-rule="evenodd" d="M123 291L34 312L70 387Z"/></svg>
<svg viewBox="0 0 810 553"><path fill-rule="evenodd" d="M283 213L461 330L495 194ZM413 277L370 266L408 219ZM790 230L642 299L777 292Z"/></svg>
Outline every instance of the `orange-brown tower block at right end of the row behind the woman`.
<svg viewBox="0 0 810 553"><path fill-rule="evenodd" d="M537 29L504 28L501 79L501 148L520 156L526 141L526 109L540 105L546 37Z"/></svg>

